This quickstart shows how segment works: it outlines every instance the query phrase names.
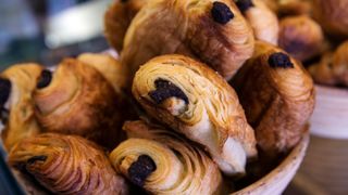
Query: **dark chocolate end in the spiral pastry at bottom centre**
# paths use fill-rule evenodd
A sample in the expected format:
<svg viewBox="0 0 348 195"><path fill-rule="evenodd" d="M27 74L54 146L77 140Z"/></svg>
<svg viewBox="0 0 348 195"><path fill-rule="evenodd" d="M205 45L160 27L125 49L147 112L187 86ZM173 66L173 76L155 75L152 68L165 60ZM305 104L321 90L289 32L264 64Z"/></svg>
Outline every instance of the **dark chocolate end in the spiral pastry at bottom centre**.
<svg viewBox="0 0 348 195"><path fill-rule="evenodd" d="M138 186L144 186L145 180L156 169L157 167L152 158L148 155L141 155L128 169L129 180Z"/></svg>

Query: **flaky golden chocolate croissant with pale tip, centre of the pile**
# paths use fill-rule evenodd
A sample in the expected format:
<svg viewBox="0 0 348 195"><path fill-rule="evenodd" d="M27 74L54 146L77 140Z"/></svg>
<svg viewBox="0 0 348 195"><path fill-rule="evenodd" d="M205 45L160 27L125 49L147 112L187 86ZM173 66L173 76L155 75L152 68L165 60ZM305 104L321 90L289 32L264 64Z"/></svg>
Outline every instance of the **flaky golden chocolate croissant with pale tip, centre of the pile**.
<svg viewBox="0 0 348 195"><path fill-rule="evenodd" d="M154 57L137 72L133 94L146 112L200 143L226 174L244 173L256 140L235 91L184 55Z"/></svg>

